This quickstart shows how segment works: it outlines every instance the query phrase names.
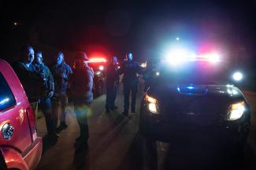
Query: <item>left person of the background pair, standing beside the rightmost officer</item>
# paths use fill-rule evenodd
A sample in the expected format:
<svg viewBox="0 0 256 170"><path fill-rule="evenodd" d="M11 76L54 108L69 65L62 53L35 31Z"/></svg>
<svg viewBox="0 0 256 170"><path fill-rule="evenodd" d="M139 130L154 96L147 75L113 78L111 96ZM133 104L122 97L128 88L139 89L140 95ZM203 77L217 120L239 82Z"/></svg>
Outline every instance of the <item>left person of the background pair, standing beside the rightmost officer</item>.
<svg viewBox="0 0 256 170"><path fill-rule="evenodd" d="M106 113L108 113L109 110L117 109L115 106L119 84L117 70L117 57L113 56L111 63L106 67Z"/></svg>

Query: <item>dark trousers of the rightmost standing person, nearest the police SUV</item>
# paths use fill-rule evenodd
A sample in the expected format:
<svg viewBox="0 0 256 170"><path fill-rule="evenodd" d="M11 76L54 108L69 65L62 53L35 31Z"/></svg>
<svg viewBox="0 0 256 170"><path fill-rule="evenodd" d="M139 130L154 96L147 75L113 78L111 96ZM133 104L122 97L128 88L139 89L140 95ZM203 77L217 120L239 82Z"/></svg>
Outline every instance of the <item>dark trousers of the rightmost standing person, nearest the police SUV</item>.
<svg viewBox="0 0 256 170"><path fill-rule="evenodd" d="M138 84L124 83L124 112L128 113L130 105L130 92L132 91L132 110L135 110L136 96L138 92Z"/></svg>

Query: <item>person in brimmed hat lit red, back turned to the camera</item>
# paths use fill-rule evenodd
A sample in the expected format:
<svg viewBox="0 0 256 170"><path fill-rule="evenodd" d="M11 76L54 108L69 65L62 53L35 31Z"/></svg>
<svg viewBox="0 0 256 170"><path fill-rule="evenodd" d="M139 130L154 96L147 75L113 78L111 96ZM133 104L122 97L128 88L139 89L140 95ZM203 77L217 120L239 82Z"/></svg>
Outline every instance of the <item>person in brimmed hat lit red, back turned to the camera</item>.
<svg viewBox="0 0 256 170"><path fill-rule="evenodd" d="M85 52L76 53L71 81L72 101L80 127L80 136L76 139L78 143L76 151L83 151L88 148L89 128L87 116L93 100L94 71L91 67L88 67L87 60Z"/></svg>

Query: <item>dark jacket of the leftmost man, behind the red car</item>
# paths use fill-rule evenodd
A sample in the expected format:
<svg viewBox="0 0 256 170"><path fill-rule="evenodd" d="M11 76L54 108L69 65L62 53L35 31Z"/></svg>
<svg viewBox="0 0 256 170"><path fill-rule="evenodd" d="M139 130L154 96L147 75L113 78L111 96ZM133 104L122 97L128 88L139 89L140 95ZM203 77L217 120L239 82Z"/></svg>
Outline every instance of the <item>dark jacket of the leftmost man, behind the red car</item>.
<svg viewBox="0 0 256 170"><path fill-rule="evenodd" d="M35 71L35 67L32 64L28 67L21 61L13 63L12 67L23 85L28 100L35 102L41 98L43 96L43 79Z"/></svg>

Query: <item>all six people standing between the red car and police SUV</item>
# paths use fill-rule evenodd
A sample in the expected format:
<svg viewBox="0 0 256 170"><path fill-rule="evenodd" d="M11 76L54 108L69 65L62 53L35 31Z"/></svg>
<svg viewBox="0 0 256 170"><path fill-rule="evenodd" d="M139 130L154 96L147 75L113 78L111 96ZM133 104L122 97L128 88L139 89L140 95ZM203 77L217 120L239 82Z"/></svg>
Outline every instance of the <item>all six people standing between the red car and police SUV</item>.
<svg viewBox="0 0 256 170"><path fill-rule="evenodd" d="M77 151L87 150L89 129L87 114L93 101L94 71L88 66L88 57L85 52L77 52L74 57L73 67L69 67L64 60L63 52L58 52L56 61L50 67L43 63L43 52L36 51L32 46L24 46L20 50L20 60L13 63L29 103L34 110L35 123L37 108L42 110L46 119L47 137L57 141L59 130L68 127L66 124L66 107L68 105L67 91L70 89L76 119L80 127L80 136L76 139ZM128 52L126 60L117 67L117 57L113 56L106 68L106 112L117 109L115 99L119 75L124 74L124 116L128 116L132 91L131 111L135 113L135 100L139 84L137 74L142 70L139 63L132 60L132 52ZM60 107L60 116L58 110ZM60 125L58 126L58 118Z"/></svg>

